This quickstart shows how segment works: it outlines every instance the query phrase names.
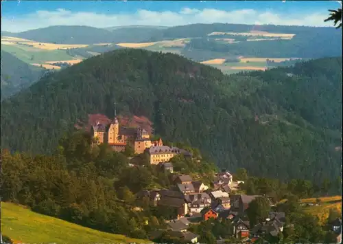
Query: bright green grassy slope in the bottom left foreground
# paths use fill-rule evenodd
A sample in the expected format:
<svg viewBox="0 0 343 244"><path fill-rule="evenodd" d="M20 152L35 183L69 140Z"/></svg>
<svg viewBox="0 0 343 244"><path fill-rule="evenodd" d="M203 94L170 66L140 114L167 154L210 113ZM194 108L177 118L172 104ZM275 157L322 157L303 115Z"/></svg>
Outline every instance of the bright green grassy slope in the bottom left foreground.
<svg viewBox="0 0 343 244"><path fill-rule="evenodd" d="M1 202L1 234L23 243L151 243L99 232Z"/></svg>

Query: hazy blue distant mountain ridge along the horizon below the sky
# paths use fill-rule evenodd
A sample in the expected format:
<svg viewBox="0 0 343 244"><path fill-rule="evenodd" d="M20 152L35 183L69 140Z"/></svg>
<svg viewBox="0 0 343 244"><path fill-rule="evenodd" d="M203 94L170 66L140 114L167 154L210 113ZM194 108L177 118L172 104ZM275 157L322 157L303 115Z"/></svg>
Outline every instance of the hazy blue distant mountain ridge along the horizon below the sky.
<svg viewBox="0 0 343 244"><path fill-rule="evenodd" d="M55 25L25 32L1 32L2 36L27 38L33 41L58 44L93 44L163 41L171 38L204 37L212 32L272 32L283 34L332 32L334 27L307 27L296 25L245 25L229 23L190 24L174 27L124 25L97 28L86 25ZM140 36L142 35L142 36Z"/></svg>

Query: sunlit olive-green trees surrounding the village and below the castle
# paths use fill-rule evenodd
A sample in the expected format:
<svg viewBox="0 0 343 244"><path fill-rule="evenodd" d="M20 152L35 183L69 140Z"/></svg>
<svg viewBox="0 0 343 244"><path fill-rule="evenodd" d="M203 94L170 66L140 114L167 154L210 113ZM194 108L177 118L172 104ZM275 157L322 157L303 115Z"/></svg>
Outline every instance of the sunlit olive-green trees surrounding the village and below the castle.
<svg viewBox="0 0 343 244"><path fill-rule="evenodd" d="M165 230L165 220L176 218L176 211L153 206L148 199L137 198L136 194L141 190L169 188L171 174L150 165L146 155L140 155L134 160L136 165L129 166L132 162L128 159L132 156L129 147L123 153L116 153L107 144L92 148L91 142L91 135L77 131L64 135L53 155L1 151L1 201L19 203L35 212L88 228L139 239L147 239L154 230ZM213 162L196 148L182 143L175 145L190 151L193 159L183 156L171 159L174 170L197 175L211 186L207 180L213 179L217 172ZM202 158L200 162L199 158ZM245 181L241 190L248 194L268 195L273 201L288 199L278 206L279 211L287 212L287 222L295 225L295 232L285 230L285 243L327 240L327 232L318 219L305 214L298 199L327 194L329 184L314 185L303 179L282 183L278 179L250 177L244 168L239 168L234 177ZM340 188L340 181L328 183L335 190ZM250 221L254 217L250 214ZM211 223L211 220L202 221L190 228L200 234L202 243L215 243L219 236L237 241L232 237L229 221ZM154 241L172 241L168 236L163 236L163 240ZM174 239L174 243L181 242Z"/></svg>

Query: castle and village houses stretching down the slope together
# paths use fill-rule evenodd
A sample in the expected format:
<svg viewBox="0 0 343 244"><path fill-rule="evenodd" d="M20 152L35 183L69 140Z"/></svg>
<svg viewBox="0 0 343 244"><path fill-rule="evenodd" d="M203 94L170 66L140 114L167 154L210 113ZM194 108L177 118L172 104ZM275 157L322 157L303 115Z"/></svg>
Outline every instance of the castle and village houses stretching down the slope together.
<svg viewBox="0 0 343 244"><path fill-rule="evenodd" d="M168 189L142 190L136 194L136 201L148 201L151 206L165 207L174 210L175 219L165 220L166 229L155 230L150 233L150 240L158 239L163 233L185 243L198 243L199 235L189 231L191 225L198 225L202 221L216 219L230 221L233 237L245 243L253 243L261 236L278 237L286 224L285 212L269 212L264 221L250 226L247 210L249 204L259 197L268 199L270 209L276 205L265 195L245 195L241 190L244 181L234 181L233 174L228 170L216 173L214 179L207 186L200 179L192 179L191 175L174 172L170 162L176 155L193 159L193 155L176 146L166 146L163 140L151 140L149 133L142 128L126 128L119 124L117 117L110 124L92 126L93 137L97 144L107 143L113 151L125 151L128 145L134 149L134 155L146 153L151 165L169 175L171 187ZM200 162L199 159L196 161ZM130 164L134 167L136 165ZM316 203L312 203L316 204ZM140 208L136 207L137 210ZM274 208L275 209L275 208ZM292 224L288 224L292 228ZM333 223L333 230L340 240L341 219ZM217 243L225 243L218 239Z"/></svg>

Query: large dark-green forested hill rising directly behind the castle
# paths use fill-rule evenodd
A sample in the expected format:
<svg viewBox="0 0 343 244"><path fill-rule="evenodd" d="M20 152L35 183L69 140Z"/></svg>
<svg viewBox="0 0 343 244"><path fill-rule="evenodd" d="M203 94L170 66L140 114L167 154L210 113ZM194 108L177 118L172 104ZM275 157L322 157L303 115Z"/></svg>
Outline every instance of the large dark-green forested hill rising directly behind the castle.
<svg viewBox="0 0 343 244"><path fill-rule="evenodd" d="M156 133L251 175L340 176L340 58L224 76L175 54L108 52L42 78L1 103L1 145L51 153L88 113L145 115Z"/></svg>

